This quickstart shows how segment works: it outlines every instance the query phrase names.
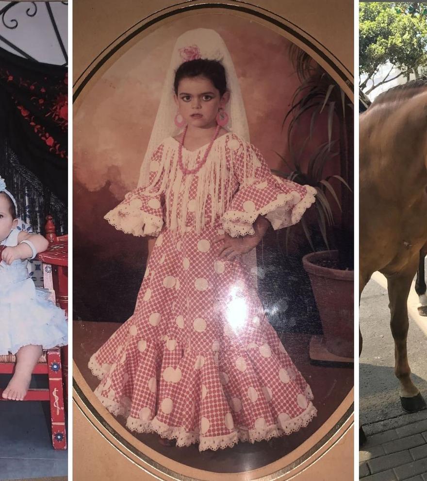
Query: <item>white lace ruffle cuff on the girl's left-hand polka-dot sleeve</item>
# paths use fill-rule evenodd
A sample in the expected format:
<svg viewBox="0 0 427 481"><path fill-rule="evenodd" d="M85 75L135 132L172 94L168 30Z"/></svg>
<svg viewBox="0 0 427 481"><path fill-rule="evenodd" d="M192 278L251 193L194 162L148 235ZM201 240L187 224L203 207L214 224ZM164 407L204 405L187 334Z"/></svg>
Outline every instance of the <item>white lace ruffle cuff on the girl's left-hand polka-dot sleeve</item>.
<svg viewBox="0 0 427 481"><path fill-rule="evenodd" d="M129 209L129 206L127 206L127 212L124 213L121 204L110 210L104 216L104 219L117 230L136 237L157 237L163 227L163 219L161 217L148 214L148 212L144 212L140 208Z"/></svg>

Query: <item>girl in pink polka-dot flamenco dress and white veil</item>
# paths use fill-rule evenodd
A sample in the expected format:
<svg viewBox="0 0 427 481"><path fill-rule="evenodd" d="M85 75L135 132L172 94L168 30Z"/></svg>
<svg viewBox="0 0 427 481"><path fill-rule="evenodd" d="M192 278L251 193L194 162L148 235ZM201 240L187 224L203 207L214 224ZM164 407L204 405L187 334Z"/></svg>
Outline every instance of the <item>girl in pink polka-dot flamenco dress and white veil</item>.
<svg viewBox="0 0 427 481"><path fill-rule="evenodd" d="M149 258L133 315L89 361L95 393L128 429L200 451L290 434L316 415L250 261L267 227L297 223L315 189L272 176L248 139L223 40L182 34L139 187L105 216L147 236Z"/></svg>

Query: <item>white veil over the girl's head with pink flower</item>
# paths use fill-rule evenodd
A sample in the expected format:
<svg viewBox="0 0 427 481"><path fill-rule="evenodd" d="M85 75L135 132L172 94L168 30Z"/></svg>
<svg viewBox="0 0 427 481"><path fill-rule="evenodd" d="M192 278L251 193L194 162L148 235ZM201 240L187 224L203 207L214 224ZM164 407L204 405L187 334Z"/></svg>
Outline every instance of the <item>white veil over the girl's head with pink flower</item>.
<svg viewBox="0 0 427 481"><path fill-rule="evenodd" d="M177 106L174 101L174 79L178 67L187 60L197 57L218 60L224 66L227 78L227 88L230 91L230 101L225 106L229 116L226 126L240 138L249 141L249 128L247 126L245 105L240 91L236 70L230 57L224 40L214 31L205 28L197 28L185 32L176 41L172 52L169 69L164 80L162 97L153 130L148 142L148 147L141 165L138 187L145 187L149 179L149 163L156 147L165 138L177 136L182 129L175 125Z"/></svg>

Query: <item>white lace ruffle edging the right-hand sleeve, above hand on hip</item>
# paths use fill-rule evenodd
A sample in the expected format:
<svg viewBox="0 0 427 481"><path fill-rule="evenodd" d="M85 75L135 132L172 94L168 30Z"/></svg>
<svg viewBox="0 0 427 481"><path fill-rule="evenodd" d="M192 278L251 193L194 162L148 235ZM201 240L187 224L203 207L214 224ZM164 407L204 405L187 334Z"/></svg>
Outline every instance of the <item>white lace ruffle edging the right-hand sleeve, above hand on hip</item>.
<svg viewBox="0 0 427 481"><path fill-rule="evenodd" d="M302 199L300 198L299 192L296 191L289 192L288 194L280 192L276 200L254 212L248 213L240 210L228 210L222 217L224 230L231 237L254 235L255 231L252 224L259 215L265 215L275 230L298 223L304 212L315 201L314 196L316 195L316 189L308 185L304 187L307 189L307 193ZM296 194L299 196L299 199L295 202ZM291 201L294 201L295 204L287 207L286 205ZM280 207L284 206L286 206L285 209L280 209ZM286 222L284 219L286 210L291 210L290 222Z"/></svg>

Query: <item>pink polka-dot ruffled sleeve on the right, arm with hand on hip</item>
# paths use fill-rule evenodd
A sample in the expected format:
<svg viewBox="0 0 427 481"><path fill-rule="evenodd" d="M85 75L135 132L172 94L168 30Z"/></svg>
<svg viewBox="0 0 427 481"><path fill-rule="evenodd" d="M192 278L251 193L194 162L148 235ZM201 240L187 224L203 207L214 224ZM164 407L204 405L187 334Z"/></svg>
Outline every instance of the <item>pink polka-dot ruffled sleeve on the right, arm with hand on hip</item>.
<svg viewBox="0 0 427 481"><path fill-rule="evenodd" d="M275 230L296 224L314 202L316 189L272 175L260 151L240 139L229 142L232 172L239 188L222 217L231 236L253 235L252 224L265 216Z"/></svg>

